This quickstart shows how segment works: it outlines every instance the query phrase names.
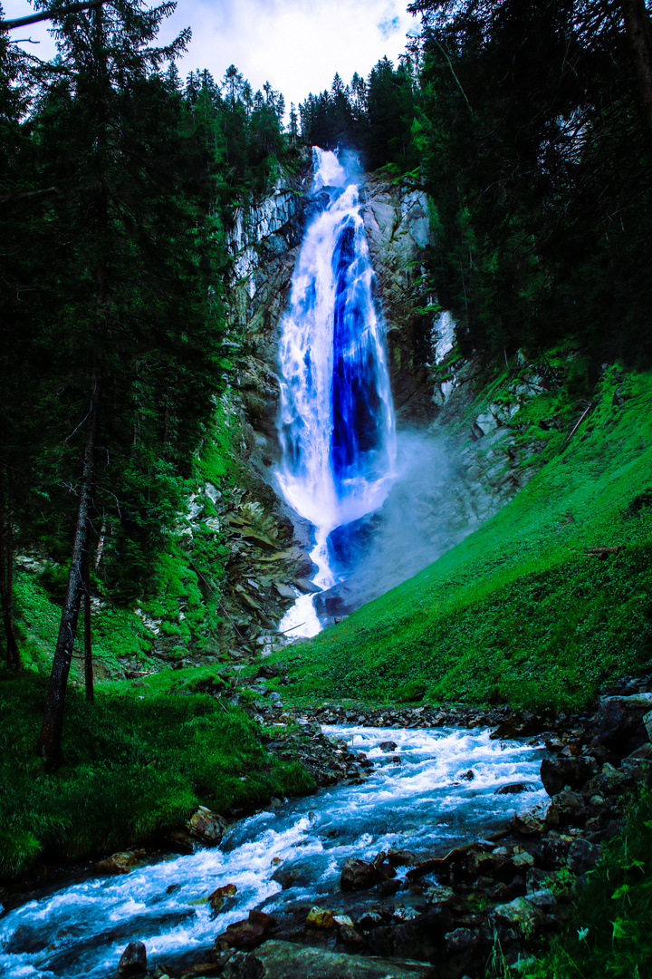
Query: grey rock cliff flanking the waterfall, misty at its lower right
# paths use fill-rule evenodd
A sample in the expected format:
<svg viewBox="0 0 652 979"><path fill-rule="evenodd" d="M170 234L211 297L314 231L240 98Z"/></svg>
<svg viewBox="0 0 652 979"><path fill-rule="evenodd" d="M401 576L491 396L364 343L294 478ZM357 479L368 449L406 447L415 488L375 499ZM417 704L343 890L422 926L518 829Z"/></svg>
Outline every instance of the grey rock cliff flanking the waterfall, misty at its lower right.
<svg viewBox="0 0 652 979"><path fill-rule="evenodd" d="M306 161L302 176L282 173L267 198L236 211L227 297L232 325L245 342L236 394L254 491L257 486L277 520L291 517L293 541L307 549L309 527L288 514L272 490L279 461L281 321L315 209L307 196L311 180ZM455 324L448 314L433 311L435 298L423 285L431 236L426 195L370 175L362 200L375 295L387 330L401 475L385 506L361 527L368 573L322 599L323 611L337 616L434 561L524 485L530 470L515 446L512 419L523 400L541 390L542 380L528 375L524 365L522 377L492 400L483 391L479 362L456 354Z"/></svg>

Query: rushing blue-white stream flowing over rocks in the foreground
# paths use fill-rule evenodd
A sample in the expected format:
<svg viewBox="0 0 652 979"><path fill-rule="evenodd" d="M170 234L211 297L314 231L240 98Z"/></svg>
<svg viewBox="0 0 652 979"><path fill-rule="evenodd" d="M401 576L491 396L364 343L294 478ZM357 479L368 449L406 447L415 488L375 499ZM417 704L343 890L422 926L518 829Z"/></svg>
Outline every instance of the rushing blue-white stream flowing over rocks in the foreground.
<svg viewBox="0 0 652 979"><path fill-rule="evenodd" d="M130 941L145 942L154 965L211 946L252 908L342 907L339 875L347 859L369 860L390 847L441 856L545 797L541 749L492 741L486 729L333 726L325 732L368 755L375 768L367 781L242 819L220 849L170 857L124 876L89 877L5 912L0 975L104 979ZM390 740L395 749L379 747ZM531 791L495 794L515 781ZM238 887L233 905L211 919L202 899L230 883ZM401 894L392 901L400 904Z"/></svg>

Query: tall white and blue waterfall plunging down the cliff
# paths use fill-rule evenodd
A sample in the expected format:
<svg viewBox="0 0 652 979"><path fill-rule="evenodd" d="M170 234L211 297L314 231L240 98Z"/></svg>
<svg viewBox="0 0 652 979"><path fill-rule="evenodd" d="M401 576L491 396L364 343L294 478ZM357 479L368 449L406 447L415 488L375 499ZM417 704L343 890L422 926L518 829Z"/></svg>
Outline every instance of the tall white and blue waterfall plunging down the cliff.
<svg viewBox="0 0 652 979"><path fill-rule="evenodd" d="M313 194L323 205L310 223L282 322L280 442L283 496L315 528L311 558L321 588L342 581L328 537L376 510L394 479L394 409L384 325L372 298L373 268L358 185L334 153L313 150ZM310 596L281 629L312 635Z"/></svg>

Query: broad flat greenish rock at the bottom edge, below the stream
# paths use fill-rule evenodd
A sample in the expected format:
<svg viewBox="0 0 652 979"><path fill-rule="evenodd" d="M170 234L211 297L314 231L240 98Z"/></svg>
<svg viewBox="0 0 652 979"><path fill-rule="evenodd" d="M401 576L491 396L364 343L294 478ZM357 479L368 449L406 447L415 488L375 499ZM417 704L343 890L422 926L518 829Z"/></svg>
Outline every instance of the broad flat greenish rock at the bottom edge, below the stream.
<svg viewBox="0 0 652 979"><path fill-rule="evenodd" d="M234 956L224 979L434 979L431 965L413 961L348 956L291 942L266 942L246 956Z"/></svg>

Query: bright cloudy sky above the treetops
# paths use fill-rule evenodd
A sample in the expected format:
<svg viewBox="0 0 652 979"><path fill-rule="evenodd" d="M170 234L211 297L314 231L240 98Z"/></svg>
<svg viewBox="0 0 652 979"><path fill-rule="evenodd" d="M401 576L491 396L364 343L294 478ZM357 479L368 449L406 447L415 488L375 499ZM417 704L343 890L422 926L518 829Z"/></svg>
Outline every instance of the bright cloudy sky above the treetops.
<svg viewBox="0 0 652 979"><path fill-rule="evenodd" d="M8 19L33 13L27 0L0 0ZM171 40L186 26L193 40L178 68L208 69L221 81L235 65L254 90L270 81L285 105L298 106L309 92L330 88L335 72L349 82L354 71L367 77L384 55L396 65L406 34L418 21L406 11L408 0L179 0L161 27L159 41ZM54 42L44 24L11 32L29 38L25 50L48 60Z"/></svg>

